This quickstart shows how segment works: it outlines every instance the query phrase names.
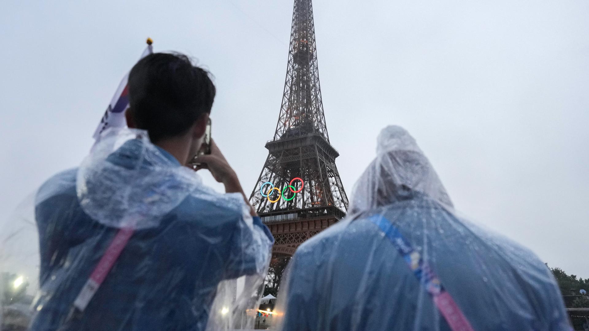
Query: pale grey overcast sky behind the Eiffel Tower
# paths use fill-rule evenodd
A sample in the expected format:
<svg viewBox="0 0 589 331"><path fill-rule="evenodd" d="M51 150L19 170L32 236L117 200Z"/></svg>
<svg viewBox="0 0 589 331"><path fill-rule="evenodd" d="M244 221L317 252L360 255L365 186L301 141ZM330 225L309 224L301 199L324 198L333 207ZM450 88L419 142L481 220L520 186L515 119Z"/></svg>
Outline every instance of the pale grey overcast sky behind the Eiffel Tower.
<svg viewBox="0 0 589 331"><path fill-rule="evenodd" d="M0 217L80 163L147 37L213 72L213 137L249 195L280 110L292 5L2 1ZM589 277L588 1L313 6L327 129L348 194L379 130L401 125L458 210Z"/></svg>

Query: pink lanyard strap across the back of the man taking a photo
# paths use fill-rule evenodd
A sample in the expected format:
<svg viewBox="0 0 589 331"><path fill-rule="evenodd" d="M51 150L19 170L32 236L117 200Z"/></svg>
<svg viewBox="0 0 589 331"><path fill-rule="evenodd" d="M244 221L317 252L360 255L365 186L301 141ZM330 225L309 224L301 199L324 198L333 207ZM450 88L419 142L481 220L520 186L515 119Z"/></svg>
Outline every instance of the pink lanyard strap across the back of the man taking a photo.
<svg viewBox="0 0 589 331"><path fill-rule="evenodd" d="M98 262L98 265L90 275L90 278L86 281L84 287L82 287L82 290L74 300L74 307L80 310L80 312L84 312L84 309L88 306L98 287L104 282L108 272L110 272L112 266L117 261L121 251L127 246L134 231L135 229L133 227L124 227L118 230L117 235L112 239L104 255L102 255L100 262Z"/></svg>

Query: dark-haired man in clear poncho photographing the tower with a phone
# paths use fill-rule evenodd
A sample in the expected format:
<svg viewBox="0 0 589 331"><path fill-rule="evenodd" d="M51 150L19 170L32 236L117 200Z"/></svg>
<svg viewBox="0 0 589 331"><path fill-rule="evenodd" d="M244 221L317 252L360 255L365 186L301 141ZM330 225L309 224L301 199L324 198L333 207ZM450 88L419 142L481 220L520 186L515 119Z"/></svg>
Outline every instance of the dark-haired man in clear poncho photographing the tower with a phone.
<svg viewBox="0 0 589 331"><path fill-rule="evenodd" d="M39 290L30 329L253 326L272 235L214 143L198 162L226 194L185 166L203 143L213 83L187 57L160 53L135 65L129 89L132 128L106 130L79 168L35 196ZM14 240L28 230L18 227L4 246L18 254L18 244L34 244ZM32 273L13 256L2 261L4 270Z"/></svg>

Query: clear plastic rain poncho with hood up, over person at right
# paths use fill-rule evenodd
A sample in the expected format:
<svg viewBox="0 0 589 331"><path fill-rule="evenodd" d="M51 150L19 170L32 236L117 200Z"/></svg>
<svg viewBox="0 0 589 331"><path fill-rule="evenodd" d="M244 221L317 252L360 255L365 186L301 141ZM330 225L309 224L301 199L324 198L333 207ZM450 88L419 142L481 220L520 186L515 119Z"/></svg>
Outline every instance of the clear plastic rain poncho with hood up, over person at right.
<svg viewBox="0 0 589 331"><path fill-rule="evenodd" d="M278 298L284 331L572 330L548 267L459 216L396 126L380 133L348 216L296 251Z"/></svg>

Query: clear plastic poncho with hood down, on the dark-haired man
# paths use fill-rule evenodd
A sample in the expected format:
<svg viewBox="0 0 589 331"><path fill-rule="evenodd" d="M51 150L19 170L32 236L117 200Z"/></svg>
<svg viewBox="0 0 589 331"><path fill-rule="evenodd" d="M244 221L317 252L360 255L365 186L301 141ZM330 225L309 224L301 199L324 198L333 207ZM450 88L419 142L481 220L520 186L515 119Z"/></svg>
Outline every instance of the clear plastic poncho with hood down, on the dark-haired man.
<svg viewBox="0 0 589 331"><path fill-rule="evenodd" d="M272 241L241 194L113 128L2 229L1 330L253 329Z"/></svg>

